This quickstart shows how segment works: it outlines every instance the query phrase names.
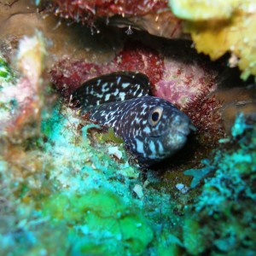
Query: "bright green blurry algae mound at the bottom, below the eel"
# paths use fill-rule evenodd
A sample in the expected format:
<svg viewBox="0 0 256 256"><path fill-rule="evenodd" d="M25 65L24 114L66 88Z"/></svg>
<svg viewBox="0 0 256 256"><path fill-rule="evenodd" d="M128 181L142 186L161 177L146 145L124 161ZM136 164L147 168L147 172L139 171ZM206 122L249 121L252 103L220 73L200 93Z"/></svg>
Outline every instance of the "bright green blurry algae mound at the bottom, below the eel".
<svg viewBox="0 0 256 256"><path fill-rule="evenodd" d="M73 248L76 255L136 255L153 239L141 210L126 206L121 197L106 189L89 190L85 195L52 195L42 205L43 215L55 224L65 221L79 230L77 240L81 241Z"/></svg>

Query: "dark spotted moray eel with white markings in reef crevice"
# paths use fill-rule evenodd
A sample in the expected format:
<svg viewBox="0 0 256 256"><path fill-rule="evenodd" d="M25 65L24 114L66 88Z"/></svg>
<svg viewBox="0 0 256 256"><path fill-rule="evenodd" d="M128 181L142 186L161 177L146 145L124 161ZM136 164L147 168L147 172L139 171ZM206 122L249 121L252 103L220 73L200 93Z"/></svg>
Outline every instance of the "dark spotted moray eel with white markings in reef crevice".
<svg viewBox="0 0 256 256"><path fill-rule="evenodd" d="M150 166L183 147L194 127L172 103L149 96L143 73L118 72L90 79L73 92L80 114L113 127L140 163Z"/></svg>

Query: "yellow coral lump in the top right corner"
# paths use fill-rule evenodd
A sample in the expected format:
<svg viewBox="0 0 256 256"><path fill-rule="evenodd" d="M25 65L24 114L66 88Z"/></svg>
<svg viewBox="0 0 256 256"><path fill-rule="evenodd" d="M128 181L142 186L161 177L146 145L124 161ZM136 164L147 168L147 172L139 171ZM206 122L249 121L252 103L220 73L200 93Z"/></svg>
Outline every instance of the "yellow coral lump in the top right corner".
<svg viewBox="0 0 256 256"><path fill-rule="evenodd" d="M174 14L186 20L184 31L191 33L198 52L216 60L230 51L230 65L240 67L242 79L256 75L255 0L197 0L193 4L170 0L170 4Z"/></svg>

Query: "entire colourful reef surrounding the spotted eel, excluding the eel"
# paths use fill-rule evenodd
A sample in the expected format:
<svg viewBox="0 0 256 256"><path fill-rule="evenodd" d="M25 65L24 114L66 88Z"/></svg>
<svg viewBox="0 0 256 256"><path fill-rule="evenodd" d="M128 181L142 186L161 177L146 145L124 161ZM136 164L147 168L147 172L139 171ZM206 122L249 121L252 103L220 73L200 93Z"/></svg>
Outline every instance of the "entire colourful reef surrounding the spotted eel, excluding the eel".
<svg viewBox="0 0 256 256"><path fill-rule="evenodd" d="M256 254L255 1L0 2L1 255ZM70 102L148 76L196 131L141 166Z"/></svg>

